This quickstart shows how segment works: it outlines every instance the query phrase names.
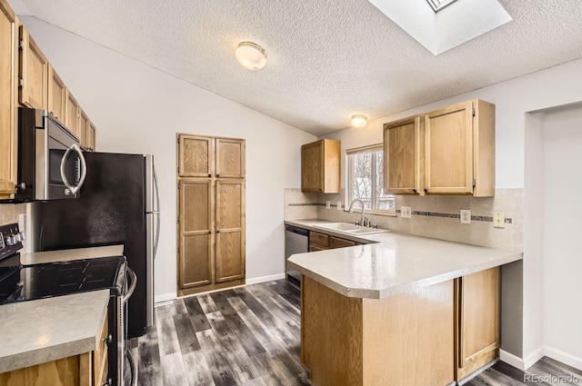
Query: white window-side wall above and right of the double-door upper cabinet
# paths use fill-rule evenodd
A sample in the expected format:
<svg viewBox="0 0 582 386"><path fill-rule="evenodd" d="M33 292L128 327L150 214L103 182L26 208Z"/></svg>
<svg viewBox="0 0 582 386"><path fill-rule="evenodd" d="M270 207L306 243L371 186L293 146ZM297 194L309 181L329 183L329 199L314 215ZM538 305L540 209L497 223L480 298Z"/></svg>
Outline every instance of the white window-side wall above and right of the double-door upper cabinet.
<svg viewBox="0 0 582 386"><path fill-rule="evenodd" d="M426 104L414 109L406 110L393 115L370 121L365 128L347 128L322 137L342 141L342 150L367 144L382 142L382 125L396 121L413 114L437 109L467 101L471 98L480 98L496 104L496 185L497 188L524 187L526 131L528 129L526 116L549 107L563 104L573 104L582 101L582 59L567 64L548 68L534 74L527 74L507 82L493 84L466 94L447 98L437 103ZM342 168L344 165L342 164ZM345 169L343 169L345 170ZM343 177L343 176L342 176ZM342 186L343 186L342 182ZM529 194L524 192L525 200ZM525 206L527 212L527 206ZM532 236L528 227L536 226L536 217L527 215L524 223L524 293L523 293L523 354L522 358L536 355L539 347L543 347L543 306L539 298L538 288L543 285L541 274L542 264L537 260L534 251L537 239ZM528 244L534 242L534 244ZM520 321L517 321L520 322Z"/></svg>

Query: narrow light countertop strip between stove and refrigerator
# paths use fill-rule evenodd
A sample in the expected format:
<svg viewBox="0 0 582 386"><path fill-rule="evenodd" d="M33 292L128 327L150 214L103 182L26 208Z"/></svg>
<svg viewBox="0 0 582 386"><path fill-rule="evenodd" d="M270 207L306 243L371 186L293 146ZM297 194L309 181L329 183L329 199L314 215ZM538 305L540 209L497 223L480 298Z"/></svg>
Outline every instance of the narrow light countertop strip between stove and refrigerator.
<svg viewBox="0 0 582 386"><path fill-rule="evenodd" d="M20 263L30 265L44 262L70 262L72 260L95 259L97 257L123 256L123 254L123 245L107 245L103 247L24 253L20 255Z"/></svg>

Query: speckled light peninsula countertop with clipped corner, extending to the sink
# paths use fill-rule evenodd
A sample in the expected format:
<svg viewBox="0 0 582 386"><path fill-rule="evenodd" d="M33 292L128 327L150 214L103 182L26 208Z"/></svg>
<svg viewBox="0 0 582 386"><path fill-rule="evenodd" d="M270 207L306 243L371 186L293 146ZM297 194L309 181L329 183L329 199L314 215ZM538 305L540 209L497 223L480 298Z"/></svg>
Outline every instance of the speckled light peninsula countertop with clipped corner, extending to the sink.
<svg viewBox="0 0 582 386"><path fill-rule="evenodd" d="M372 242L348 248L298 253L288 260L297 271L347 297L381 299L523 258L522 252L407 234L353 236L324 231L314 227L318 223L327 223L321 220L285 223L356 242Z"/></svg>

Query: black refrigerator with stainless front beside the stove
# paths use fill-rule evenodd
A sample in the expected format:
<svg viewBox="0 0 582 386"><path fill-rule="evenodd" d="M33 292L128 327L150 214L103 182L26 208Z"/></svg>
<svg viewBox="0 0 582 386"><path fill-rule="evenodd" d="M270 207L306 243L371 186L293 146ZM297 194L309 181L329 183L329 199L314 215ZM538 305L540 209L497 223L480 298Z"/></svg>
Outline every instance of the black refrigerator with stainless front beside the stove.
<svg viewBox="0 0 582 386"><path fill-rule="evenodd" d="M159 194L153 155L84 153L86 178L75 200L35 203L35 250L124 245L137 275L127 305L127 338L154 323L154 259Z"/></svg>

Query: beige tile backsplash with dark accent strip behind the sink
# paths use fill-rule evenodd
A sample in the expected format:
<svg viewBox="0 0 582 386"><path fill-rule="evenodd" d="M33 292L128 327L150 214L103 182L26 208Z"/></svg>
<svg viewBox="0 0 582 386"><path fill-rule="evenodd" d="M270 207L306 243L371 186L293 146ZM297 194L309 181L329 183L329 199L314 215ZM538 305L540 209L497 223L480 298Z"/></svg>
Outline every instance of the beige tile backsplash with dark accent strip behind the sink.
<svg viewBox="0 0 582 386"><path fill-rule="evenodd" d="M359 220L357 210L347 213L336 209L338 201L344 203L343 191L340 194L301 193L300 189L285 191L286 220L319 218L346 223ZM332 203L331 209L326 209L326 201ZM496 189L495 197L397 195L396 216L366 213L366 217L396 233L523 251L522 203L521 188ZM411 218L400 216L403 205L412 208ZM460 223L461 209L471 211L470 224ZM505 214L505 228L493 227L493 213L497 212Z"/></svg>

